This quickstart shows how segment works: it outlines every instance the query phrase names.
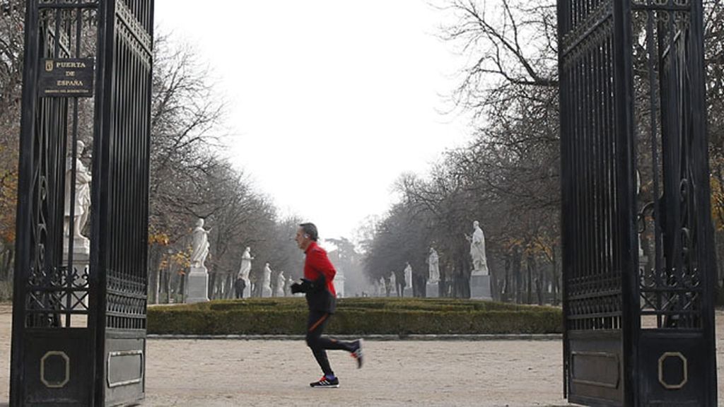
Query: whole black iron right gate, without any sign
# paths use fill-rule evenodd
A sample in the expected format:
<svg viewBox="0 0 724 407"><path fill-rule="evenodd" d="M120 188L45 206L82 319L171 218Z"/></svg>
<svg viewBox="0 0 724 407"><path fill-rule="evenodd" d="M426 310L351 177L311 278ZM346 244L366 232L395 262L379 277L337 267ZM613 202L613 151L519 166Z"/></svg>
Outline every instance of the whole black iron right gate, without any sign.
<svg viewBox="0 0 724 407"><path fill-rule="evenodd" d="M716 406L701 0L559 0L564 392Z"/></svg>

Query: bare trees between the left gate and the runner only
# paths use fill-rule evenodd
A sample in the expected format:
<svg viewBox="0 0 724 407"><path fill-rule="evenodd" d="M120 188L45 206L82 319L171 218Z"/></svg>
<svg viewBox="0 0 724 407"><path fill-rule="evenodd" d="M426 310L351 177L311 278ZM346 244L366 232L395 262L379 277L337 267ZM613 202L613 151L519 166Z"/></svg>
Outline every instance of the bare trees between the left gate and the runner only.
<svg viewBox="0 0 724 407"><path fill-rule="evenodd" d="M241 255L255 258L251 280L264 264L285 275L300 273L302 257L292 242L300 219L279 217L267 196L219 156L224 143L224 103L189 46L156 38L151 108L151 210L149 285L182 295L190 231L198 218L209 233L210 298L230 298ZM276 279L276 274L273 276ZM153 294L152 294L153 295ZM155 298L151 298L155 300Z"/></svg>

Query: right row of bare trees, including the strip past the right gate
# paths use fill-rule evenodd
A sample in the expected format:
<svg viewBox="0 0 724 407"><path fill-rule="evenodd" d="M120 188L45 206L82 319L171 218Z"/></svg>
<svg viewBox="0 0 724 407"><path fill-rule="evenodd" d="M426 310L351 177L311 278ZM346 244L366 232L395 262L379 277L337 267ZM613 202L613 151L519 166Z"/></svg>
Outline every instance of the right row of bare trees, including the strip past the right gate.
<svg viewBox="0 0 724 407"><path fill-rule="evenodd" d="M446 0L455 23L442 37L467 56L451 101L473 113L467 146L442 154L429 176L401 175L400 201L375 222L366 248L370 280L413 267L424 295L429 247L439 252L440 294L469 295L471 259L464 233L479 220L487 239L493 296L503 301L560 299L560 148L556 2ZM724 241L724 14L705 0L707 102L712 202ZM639 53L636 44L634 54ZM639 63L641 63L639 61ZM637 70L636 75L644 75ZM637 89L646 93L646 89ZM643 94L646 98L646 94ZM642 109L642 111L645 111ZM719 247L719 253L724 253ZM720 256L721 258L721 256Z"/></svg>

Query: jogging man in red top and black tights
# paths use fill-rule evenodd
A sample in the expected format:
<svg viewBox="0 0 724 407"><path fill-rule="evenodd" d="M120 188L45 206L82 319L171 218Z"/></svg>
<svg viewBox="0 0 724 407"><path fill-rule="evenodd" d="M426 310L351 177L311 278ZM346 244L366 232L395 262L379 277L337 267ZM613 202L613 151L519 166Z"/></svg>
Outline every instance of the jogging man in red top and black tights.
<svg viewBox="0 0 724 407"><path fill-rule="evenodd" d="M292 293L305 293L307 306L309 308L309 319L307 321L306 340L316 358L324 376L316 382L309 383L311 387L340 387L340 379L337 379L329 366L327 349L348 351L357 361L357 367L362 367L362 340L353 342L342 342L341 340L322 337L324 326L329 322L329 316L334 313L335 297L334 290L334 269L327 257L327 252L317 245L319 234L313 223L303 223L297 229L295 240L297 246L306 254L304 261L304 278L301 282L292 284Z"/></svg>

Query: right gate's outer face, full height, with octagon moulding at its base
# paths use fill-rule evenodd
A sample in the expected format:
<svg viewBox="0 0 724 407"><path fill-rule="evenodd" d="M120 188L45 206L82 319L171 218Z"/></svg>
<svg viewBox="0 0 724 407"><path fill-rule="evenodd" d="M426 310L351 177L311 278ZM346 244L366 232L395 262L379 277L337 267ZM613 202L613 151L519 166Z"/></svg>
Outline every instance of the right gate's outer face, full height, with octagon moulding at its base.
<svg viewBox="0 0 724 407"><path fill-rule="evenodd" d="M717 267L710 218L702 2L637 0L632 16L639 175L636 311L641 330L636 338L636 402L713 406ZM678 360L665 358L672 352L686 363L662 363Z"/></svg>

